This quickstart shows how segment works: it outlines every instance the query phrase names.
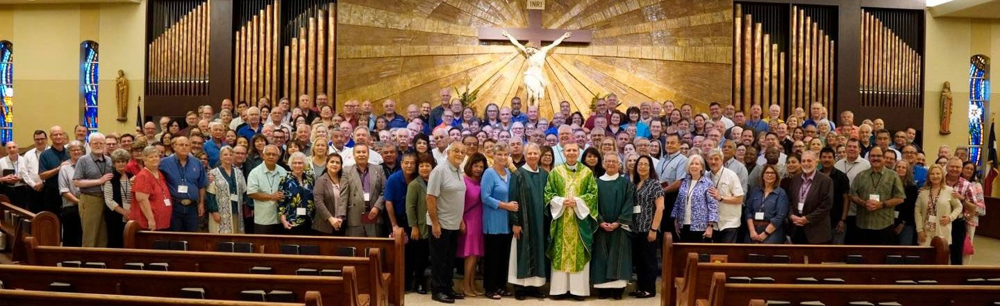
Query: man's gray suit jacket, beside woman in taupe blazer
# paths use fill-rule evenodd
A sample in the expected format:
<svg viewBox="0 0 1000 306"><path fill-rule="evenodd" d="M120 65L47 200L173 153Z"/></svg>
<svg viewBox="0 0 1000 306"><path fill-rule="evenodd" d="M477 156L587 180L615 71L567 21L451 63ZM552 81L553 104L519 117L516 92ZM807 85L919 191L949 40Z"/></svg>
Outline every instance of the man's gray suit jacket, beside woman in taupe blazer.
<svg viewBox="0 0 1000 306"><path fill-rule="evenodd" d="M385 191L385 171L382 166L368 163L368 184L369 199L367 203L364 199L364 189L361 185L361 175L358 174L358 166L351 165L344 167L344 174L347 178L347 226L364 225L361 222L361 215L367 214L372 207L378 207L379 215L385 212L385 198L382 194ZM376 223L382 223L381 218L377 218Z"/></svg>

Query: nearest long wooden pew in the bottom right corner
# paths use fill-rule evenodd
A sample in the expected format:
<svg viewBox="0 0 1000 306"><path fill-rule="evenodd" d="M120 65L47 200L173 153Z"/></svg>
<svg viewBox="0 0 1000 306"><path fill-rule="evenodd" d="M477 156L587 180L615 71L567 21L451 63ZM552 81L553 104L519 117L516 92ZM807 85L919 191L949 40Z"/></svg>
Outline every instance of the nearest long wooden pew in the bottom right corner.
<svg viewBox="0 0 1000 306"><path fill-rule="evenodd" d="M698 300L697 305L764 305L763 300L791 305L806 301L837 306L855 301L906 306L993 305L1000 301L1000 286L727 284L725 273L715 273L708 300Z"/></svg>

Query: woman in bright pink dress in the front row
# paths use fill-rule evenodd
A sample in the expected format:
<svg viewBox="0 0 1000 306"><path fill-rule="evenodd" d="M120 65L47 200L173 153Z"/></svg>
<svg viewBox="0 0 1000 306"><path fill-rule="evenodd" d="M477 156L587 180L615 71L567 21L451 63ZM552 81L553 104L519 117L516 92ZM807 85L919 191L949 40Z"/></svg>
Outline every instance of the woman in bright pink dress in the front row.
<svg viewBox="0 0 1000 306"><path fill-rule="evenodd" d="M465 279L462 290L466 296L477 296L476 261L483 256L483 200L479 196L479 180L486 171L486 156L476 153L465 163L465 211L459 225L458 257L465 258Z"/></svg>

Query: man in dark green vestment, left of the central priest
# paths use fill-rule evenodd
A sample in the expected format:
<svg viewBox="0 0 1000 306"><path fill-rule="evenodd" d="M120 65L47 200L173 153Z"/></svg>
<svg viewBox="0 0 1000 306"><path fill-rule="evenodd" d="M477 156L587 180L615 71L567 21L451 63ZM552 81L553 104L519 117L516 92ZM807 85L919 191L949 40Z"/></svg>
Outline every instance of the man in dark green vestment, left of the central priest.
<svg viewBox="0 0 1000 306"><path fill-rule="evenodd" d="M524 300L531 296L544 298L539 287L549 276L545 258L548 234L548 215L545 211L543 191L549 174L539 167L542 151L537 144L525 148L525 164L510 176L510 201L518 203L519 210L508 214L514 233L511 240L510 265L507 282L517 286L514 298Z"/></svg>

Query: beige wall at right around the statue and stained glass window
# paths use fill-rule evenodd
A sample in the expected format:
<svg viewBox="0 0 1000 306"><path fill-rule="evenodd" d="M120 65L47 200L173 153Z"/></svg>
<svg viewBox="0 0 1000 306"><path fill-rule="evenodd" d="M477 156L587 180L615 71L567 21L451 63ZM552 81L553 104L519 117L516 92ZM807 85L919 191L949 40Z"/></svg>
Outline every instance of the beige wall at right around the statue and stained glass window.
<svg viewBox="0 0 1000 306"><path fill-rule="evenodd" d="M969 144L969 58L976 54L989 56L992 62L991 104L1000 103L1000 20L968 18L933 18L927 14L927 58L924 79L924 149L928 162L937 155L937 148L946 144L952 148ZM951 82L953 111L951 134L941 135L941 86ZM996 114L1000 107L989 108ZM989 118L987 117L987 122ZM984 129L989 135L989 126Z"/></svg>

